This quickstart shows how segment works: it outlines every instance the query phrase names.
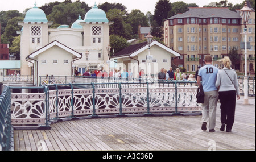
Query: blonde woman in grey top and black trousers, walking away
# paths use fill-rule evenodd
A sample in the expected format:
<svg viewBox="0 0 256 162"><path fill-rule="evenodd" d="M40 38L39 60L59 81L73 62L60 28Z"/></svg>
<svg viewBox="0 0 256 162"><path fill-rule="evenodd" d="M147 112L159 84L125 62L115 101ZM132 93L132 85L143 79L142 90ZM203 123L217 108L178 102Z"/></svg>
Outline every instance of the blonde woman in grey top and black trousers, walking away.
<svg viewBox="0 0 256 162"><path fill-rule="evenodd" d="M237 74L236 71L230 67L231 61L229 57L224 57L220 61L224 65L224 68L218 71L215 84L216 87L219 89L218 96L221 103L220 130L224 131L226 126L226 132L231 132L234 124L236 95L237 99L240 99Z"/></svg>

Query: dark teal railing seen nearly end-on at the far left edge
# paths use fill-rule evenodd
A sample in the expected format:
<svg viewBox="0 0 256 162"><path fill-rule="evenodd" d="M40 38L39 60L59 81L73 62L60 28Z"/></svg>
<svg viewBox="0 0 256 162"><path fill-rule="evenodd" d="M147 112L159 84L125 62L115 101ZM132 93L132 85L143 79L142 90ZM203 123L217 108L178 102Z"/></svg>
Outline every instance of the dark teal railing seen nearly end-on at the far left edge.
<svg viewBox="0 0 256 162"><path fill-rule="evenodd" d="M11 125L11 91L5 87L0 95L0 151L13 150L13 126Z"/></svg>

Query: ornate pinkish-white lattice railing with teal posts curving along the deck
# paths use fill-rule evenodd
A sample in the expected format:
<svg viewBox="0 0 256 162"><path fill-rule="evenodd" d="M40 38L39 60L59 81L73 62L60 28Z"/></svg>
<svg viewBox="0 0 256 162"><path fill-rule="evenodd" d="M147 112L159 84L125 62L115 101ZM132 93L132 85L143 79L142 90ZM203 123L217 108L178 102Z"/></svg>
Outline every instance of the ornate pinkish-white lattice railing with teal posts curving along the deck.
<svg viewBox="0 0 256 162"><path fill-rule="evenodd" d="M55 84L34 88L39 89L39 93L13 93L12 124L48 126L51 119L85 116L201 113L201 105L196 103L196 86L179 87L177 82L164 82L164 86L145 82L141 86L134 84L134 87L125 83L112 84L117 86L96 88L101 84L66 84L70 89L59 89L63 84ZM88 88L76 89L79 86Z"/></svg>

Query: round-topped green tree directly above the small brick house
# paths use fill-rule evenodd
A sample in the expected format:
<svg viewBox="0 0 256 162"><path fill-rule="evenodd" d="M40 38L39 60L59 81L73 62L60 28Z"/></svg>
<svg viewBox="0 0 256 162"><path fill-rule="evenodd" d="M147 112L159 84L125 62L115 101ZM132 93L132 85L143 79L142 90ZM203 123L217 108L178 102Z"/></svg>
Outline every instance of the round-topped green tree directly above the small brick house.
<svg viewBox="0 0 256 162"><path fill-rule="evenodd" d="M126 18L126 23L129 23L132 27L133 35L138 34L138 26L148 26L147 16L140 10L131 10L131 13Z"/></svg>

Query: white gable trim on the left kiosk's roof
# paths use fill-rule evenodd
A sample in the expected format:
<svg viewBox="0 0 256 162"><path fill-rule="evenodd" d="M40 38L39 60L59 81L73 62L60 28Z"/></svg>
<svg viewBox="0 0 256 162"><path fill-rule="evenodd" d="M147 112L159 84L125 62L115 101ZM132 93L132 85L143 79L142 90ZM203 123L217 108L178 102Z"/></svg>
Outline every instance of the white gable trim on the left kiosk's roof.
<svg viewBox="0 0 256 162"><path fill-rule="evenodd" d="M29 58L34 58L34 57L36 57L37 55L39 55L40 53L46 51L47 49L52 48L54 45L57 45L58 47L64 49L65 51L71 53L72 55L75 55L76 57L79 57L79 58L82 57L78 52L73 51L72 49L66 47L66 46L63 45L63 44L60 44L58 41L53 41L52 43L46 45L45 47L39 49L38 51L36 51L36 52L34 52L34 53L32 53L32 54L29 56Z"/></svg>

